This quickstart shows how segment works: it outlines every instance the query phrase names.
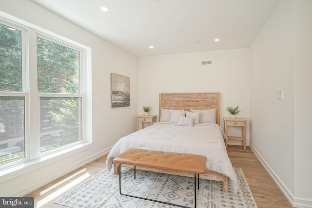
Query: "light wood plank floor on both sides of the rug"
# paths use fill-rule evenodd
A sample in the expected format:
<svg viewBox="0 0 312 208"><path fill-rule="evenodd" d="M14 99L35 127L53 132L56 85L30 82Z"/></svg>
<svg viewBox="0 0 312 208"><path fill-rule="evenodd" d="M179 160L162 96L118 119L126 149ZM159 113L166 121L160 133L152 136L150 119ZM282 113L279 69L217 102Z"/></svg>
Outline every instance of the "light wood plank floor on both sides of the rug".
<svg viewBox="0 0 312 208"><path fill-rule="evenodd" d="M249 147L243 150L241 146L228 145L227 151L233 167L243 170L258 208L292 208ZM104 155L26 196L34 197L35 208L64 208L53 202L82 181L103 170L106 157L107 155Z"/></svg>

